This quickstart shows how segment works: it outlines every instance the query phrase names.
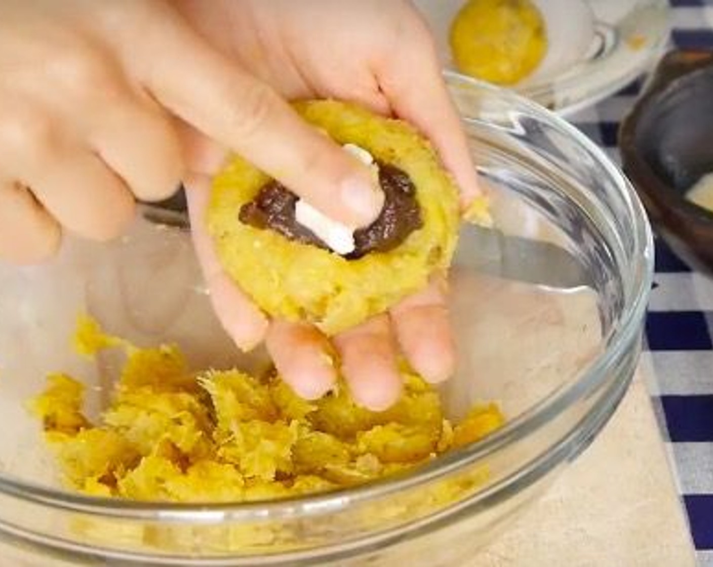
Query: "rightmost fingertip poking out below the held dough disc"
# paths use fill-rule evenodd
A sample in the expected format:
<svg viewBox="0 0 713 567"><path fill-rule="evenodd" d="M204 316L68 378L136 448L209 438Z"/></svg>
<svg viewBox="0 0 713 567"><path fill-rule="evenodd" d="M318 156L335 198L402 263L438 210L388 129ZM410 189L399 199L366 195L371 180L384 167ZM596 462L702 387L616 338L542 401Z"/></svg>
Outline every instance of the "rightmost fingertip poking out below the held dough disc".
<svg viewBox="0 0 713 567"><path fill-rule="evenodd" d="M401 352L429 382L443 382L456 367L456 346L448 320L445 284L440 278L391 308Z"/></svg>

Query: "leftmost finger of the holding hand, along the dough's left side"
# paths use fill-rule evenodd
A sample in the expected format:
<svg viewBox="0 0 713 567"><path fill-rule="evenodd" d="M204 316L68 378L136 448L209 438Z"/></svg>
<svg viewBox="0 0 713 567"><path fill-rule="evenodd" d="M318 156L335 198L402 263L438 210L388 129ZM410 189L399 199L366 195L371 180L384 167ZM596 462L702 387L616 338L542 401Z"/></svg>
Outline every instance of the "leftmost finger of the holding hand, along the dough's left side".
<svg viewBox="0 0 713 567"><path fill-rule="evenodd" d="M215 313L235 344L245 351L250 350L264 339L267 318L222 270L212 240L205 231L210 179L202 175L188 175L184 185L193 244Z"/></svg>

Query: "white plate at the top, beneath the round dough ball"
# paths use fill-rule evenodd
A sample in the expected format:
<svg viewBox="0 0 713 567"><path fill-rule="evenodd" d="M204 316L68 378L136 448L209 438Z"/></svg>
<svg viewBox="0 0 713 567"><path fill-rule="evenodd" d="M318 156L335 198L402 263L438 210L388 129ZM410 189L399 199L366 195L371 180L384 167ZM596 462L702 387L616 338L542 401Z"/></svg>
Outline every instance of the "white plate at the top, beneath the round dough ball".
<svg viewBox="0 0 713 567"><path fill-rule="evenodd" d="M436 35L445 68L457 71L448 30L466 0L415 0ZM516 91L569 114L610 96L647 71L669 35L667 0L534 0L548 53Z"/></svg>

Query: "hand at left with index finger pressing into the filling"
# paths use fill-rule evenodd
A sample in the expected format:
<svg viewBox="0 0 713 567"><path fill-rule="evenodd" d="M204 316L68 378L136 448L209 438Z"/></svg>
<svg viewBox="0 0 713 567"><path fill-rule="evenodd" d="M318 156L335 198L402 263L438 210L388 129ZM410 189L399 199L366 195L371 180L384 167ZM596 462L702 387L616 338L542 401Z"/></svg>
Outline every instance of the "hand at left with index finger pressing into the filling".
<svg viewBox="0 0 713 567"><path fill-rule="evenodd" d="M100 240L120 233L133 197L160 200L178 187L187 128L334 218L359 225L379 212L366 170L201 39L172 4L6 0L0 257L48 257L61 228ZM307 179L312 167L317 174Z"/></svg>

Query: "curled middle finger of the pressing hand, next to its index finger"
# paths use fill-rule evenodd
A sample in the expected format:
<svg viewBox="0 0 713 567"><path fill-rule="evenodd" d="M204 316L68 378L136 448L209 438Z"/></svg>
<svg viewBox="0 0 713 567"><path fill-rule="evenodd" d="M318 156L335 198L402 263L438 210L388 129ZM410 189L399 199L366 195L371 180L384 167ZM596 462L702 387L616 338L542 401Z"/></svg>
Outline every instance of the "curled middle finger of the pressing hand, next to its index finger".
<svg viewBox="0 0 713 567"><path fill-rule="evenodd" d="M106 108L88 132L89 143L140 200L169 198L184 165L178 133L148 102L125 97Z"/></svg>

